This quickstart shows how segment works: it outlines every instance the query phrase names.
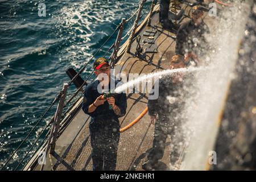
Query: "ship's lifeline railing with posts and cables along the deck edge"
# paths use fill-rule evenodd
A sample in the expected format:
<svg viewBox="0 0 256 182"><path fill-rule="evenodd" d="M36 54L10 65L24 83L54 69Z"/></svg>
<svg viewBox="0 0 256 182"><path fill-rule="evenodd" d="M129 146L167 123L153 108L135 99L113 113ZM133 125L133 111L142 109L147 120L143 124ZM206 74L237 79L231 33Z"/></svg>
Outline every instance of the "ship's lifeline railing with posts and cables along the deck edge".
<svg viewBox="0 0 256 182"><path fill-rule="evenodd" d="M40 137L42 137L42 135L44 134L45 131L47 131L48 127L50 125L52 125L51 130L48 130L47 134L45 135L44 139L42 140L42 142L38 145L38 147L36 148L36 150L34 151L34 153L32 154L31 158L28 160L30 161L32 159L32 157L36 154L36 152L39 150L40 147L43 146L44 141L48 138L48 143L47 143L47 148L46 148L46 154L47 151L49 150L50 153L54 151L55 149L55 142L56 139L58 137L58 135L60 134L60 131L63 130L63 128L65 128L65 126L67 125L67 123L65 123L65 121L68 120L68 118L72 115L72 111L71 109L77 104L77 102L80 100L80 98L82 96L84 96L84 92L82 92L82 94L80 95L79 98L77 98L77 100L72 104L71 107L69 107L67 109L67 111L65 111L64 116L66 115L67 119L64 118L64 116L62 116L61 114L63 113L63 110L65 107L67 107L67 105L73 100L73 98L75 98L77 96L77 94L79 93L79 91L82 89L82 87L84 85L87 85L87 81L89 80L89 78L93 75L93 71L92 70L90 72L90 75L86 78L86 80L84 81L84 83L80 86L79 89L76 90L76 92L73 94L73 96L71 98L69 98L69 100L64 104L65 102L65 97L67 94L67 89L69 88L69 86L72 84L73 81L76 80L76 78L85 70L86 66L88 64L90 64L90 62L94 59L94 57L98 54L98 52L102 51L102 48L105 46L106 43L109 42L109 40L114 36L115 32L118 31L118 35L117 35L117 39L115 40L115 43L112 44L112 46L110 46L110 48L108 49L108 51L106 51L105 55L103 57L105 57L109 51L111 49L113 49L113 52L111 54L111 56L108 58L110 60L110 65L112 65L112 67L114 67L115 63L117 63L118 60L118 51L119 51L119 47L120 47L120 43L122 42L122 40L124 40L126 38L126 36L130 35L130 33L132 32L132 34L129 37L129 44L128 44L128 52L130 52L130 47L131 47L131 43L133 43L134 40L134 36L135 36L135 31L138 28L138 22L139 20L142 18L142 16L144 14L146 14L146 12L141 15L142 13L142 9L144 6L144 3L146 2L146 0L141 0L141 2L139 3L139 8L135 11L135 13L133 15L130 16L130 18L126 19L122 19L122 22L115 28L115 30L113 31L113 33L109 36L109 38L102 44L102 46L97 50L96 53L94 53L94 55L89 59L89 61L80 69L79 72L77 72L77 74L72 78L71 81L69 81L68 83L65 83L63 86L63 89L61 89L61 91L57 94L57 96L55 97L55 99L52 101L51 105L49 105L48 109L46 110L46 112L42 115L42 117L40 117L40 119L36 122L36 124L34 125L34 127L32 128L32 130L30 131L30 133L27 134L27 136L23 139L23 141L19 144L19 146L16 148L16 150L13 152L13 154L10 156L10 158L5 162L5 164L3 165L3 167L1 168L1 170L3 170L7 164L10 162L11 159L13 159L13 156L16 154L16 152L18 152L18 150L20 149L20 147L22 147L22 145L24 144L24 142L26 142L26 140L28 139L28 137L30 137L31 133L35 130L36 126L39 125L40 121L42 121L42 119L46 116L46 114L48 113L48 111L52 108L53 105L56 104L57 101L59 101L59 104L57 106L57 111L55 113L55 116L51 118L51 120L47 123L46 127L44 127L43 131L41 132L41 134L39 135L38 138L36 138L35 142L32 144L31 148L26 152L26 155L23 157L23 159L19 162L18 166L15 167L14 170L17 170L19 168L19 166L23 163L24 159L27 158L28 154L32 151L32 149L34 148L35 144L39 141ZM155 5L155 0L152 0L152 4L151 4L151 9L150 9L150 17L152 15L152 10L154 9L154 5ZM125 36L122 37L123 34L123 30L125 27L125 23L129 22L135 15L136 19L134 21L134 25L133 27L130 28L130 30L127 32L127 34ZM148 20L147 25L150 25L150 21L151 19ZM94 76L93 80L96 78L96 76ZM92 80L92 81L93 81ZM69 112L71 111L71 112ZM69 113L69 115L67 115ZM61 119L65 119L65 121L61 121ZM122 132L122 131L121 131ZM25 167L25 166L24 166ZM24 169L24 167L22 169ZM41 169L43 169L43 165L41 167Z"/></svg>

